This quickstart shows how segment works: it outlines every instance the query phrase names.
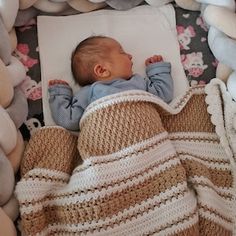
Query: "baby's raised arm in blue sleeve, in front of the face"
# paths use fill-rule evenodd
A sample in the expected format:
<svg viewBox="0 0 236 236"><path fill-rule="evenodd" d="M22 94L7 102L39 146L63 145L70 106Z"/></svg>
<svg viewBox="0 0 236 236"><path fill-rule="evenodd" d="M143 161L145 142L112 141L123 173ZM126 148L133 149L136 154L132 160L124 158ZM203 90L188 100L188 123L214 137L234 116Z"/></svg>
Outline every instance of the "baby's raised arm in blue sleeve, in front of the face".
<svg viewBox="0 0 236 236"><path fill-rule="evenodd" d="M171 65L164 62L161 55L154 55L145 61L149 78L148 91L169 103L173 99Z"/></svg>

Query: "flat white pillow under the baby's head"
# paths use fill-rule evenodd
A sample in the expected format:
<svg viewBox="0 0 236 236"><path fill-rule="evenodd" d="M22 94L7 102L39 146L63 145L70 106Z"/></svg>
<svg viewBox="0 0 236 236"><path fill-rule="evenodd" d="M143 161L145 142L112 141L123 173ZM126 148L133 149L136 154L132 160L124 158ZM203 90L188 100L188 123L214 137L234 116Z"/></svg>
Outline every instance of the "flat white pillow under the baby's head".
<svg viewBox="0 0 236 236"><path fill-rule="evenodd" d="M48 81L63 79L74 91L70 69L71 52L91 35L105 35L118 40L133 56L133 71L145 76L144 61L161 54L171 62L174 96L188 88L176 33L175 11L172 5L152 7L142 5L127 11L99 10L72 16L39 16L38 40L41 63L43 112L45 125L54 125L48 104Z"/></svg>

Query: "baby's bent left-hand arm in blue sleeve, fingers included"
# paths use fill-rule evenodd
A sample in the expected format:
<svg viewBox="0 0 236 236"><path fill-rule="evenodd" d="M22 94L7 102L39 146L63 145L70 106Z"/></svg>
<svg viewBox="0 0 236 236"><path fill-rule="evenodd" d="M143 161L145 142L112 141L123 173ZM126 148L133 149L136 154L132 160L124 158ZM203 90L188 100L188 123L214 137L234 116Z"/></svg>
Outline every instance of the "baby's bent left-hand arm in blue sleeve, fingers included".
<svg viewBox="0 0 236 236"><path fill-rule="evenodd" d="M56 124L69 129L79 130L79 121L84 112L80 99L73 96L72 89L66 81L49 81L49 106Z"/></svg>

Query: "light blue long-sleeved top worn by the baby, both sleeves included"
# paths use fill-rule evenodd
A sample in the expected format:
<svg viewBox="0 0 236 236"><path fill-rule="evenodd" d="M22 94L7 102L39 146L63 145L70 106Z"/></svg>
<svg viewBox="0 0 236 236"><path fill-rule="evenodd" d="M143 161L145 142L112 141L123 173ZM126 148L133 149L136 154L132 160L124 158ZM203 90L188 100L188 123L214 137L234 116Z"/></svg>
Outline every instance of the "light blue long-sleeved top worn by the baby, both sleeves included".
<svg viewBox="0 0 236 236"><path fill-rule="evenodd" d="M56 84L48 88L49 106L56 124L69 130L79 130L79 121L86 107L93 101L114 93L138 89L150 92L165 102L173 99L173 80L168 62L157 62L146 67L147 78L138 74L129 80L116 78L111 81L96 81L82 87L73 96L68 85Z"/></svg>

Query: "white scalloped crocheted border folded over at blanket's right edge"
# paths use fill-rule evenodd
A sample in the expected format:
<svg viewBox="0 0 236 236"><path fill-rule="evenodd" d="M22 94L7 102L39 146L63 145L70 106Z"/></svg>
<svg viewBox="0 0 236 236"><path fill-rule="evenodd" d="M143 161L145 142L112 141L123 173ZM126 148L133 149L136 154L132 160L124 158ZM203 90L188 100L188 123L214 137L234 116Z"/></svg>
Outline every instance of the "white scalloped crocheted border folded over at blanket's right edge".
<svg viewBox="0 0 236 236"><path fill-rule="evenodd" d="M211 121L216 126L216 133L232 166L234 196L232 204L232 212L234 214L233 235L236 235L236 130L233 126L236 117L236 102L232 100L225 84L219 79L211 80L206 86L205 92Z"/></svg>

